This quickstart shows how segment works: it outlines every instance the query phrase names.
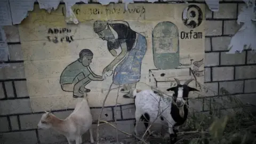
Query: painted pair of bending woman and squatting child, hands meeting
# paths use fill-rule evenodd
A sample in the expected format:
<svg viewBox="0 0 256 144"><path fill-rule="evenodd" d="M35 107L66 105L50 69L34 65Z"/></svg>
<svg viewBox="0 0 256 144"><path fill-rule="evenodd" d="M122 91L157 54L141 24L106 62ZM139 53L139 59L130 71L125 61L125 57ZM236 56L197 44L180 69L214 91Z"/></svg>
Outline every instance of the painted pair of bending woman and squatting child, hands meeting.
<svg viewBox="0 0 256 144"><path fill-rule="evenodd" d="M107 41L106 49L115 57L103 69L102 76L110 72L113 83L123 85L121 92L130 94L130 89L135 88L140 80L141 62L147 50L145 36L133 31L126 21L95 21L93 30L99 38ZM119 55L117 49L121 49ZM85 88L87 84L91 81L103 81L103 77L94 74L90 68L92 58L92 51L84 49L79 53L79 59L63 70L60 77L63 91L73 92L74 98L83 97L84 93L91 91Z"/></svg>

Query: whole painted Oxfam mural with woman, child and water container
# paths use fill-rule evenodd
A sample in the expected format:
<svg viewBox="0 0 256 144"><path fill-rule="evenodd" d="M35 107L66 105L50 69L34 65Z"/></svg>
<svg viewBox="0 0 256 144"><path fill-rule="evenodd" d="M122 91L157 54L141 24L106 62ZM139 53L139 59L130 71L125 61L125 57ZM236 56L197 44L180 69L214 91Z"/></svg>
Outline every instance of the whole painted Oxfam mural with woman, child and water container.
<svg viewBox="0 0 256 144"><path fill-rule="evenodd" d="M62 8L36 5L19 26L33 111L74 108L84 95L100 107L109 89L105 106L124 105L135 87L166 92L174 77L204 83L204 5L74 5L78 25Z"/></svg>

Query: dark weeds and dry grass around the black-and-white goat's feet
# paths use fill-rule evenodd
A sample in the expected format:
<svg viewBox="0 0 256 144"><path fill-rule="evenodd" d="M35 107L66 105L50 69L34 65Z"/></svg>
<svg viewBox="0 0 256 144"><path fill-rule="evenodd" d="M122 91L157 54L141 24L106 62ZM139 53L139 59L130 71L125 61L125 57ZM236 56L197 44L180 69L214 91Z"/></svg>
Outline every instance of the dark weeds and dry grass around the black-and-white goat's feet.
<svg viewBox="0 0 256 144"><path fill-rule="evenodd" d="M189 117L180 127L177 144L256 143L256 117L248 109L248 105L244 105L234 95L230 95L223 87L219 96L202 100L205 103L204 109L207 110L199 112L193 108L189 109ZM100 117L99 121L101 121ZM146 136L143 134L144 137L135 137L134 134L121 132L127 137L137 139L131 143L169 143L168 137L152 138L147 134ZM99 138L99 135L97 136ZM118 140L117 143L121 142Z"/></svg>

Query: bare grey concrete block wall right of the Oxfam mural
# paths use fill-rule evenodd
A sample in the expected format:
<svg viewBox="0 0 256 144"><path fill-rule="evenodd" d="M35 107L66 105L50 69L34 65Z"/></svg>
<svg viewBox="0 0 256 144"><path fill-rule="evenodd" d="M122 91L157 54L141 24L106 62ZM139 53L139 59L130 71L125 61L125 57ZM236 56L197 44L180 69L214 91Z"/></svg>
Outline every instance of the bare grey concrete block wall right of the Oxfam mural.
<svg viewBox="0 0 256 144"><path fill-rule="evenodd" d="M255 105L255 53L226 54L231 36L241 27L236 20L242 6L243 2L222 2L218 12L206 15L205 84L218 85L218 95L224 87L242 102Z"/></svg>

